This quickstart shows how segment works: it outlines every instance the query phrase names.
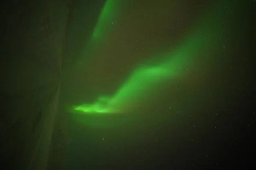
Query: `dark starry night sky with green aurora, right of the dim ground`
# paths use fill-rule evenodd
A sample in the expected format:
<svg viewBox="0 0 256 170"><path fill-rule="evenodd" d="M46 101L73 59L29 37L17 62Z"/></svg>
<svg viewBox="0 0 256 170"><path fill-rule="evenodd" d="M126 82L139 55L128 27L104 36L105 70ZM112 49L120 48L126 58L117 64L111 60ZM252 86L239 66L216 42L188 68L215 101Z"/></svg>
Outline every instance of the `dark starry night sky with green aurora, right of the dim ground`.
<svg viewBox="0 0 256 170"><path fill-rule="evenodd" d="M74 1L60 104L67 168L249 169L252 16L255 0Z"/></svg>

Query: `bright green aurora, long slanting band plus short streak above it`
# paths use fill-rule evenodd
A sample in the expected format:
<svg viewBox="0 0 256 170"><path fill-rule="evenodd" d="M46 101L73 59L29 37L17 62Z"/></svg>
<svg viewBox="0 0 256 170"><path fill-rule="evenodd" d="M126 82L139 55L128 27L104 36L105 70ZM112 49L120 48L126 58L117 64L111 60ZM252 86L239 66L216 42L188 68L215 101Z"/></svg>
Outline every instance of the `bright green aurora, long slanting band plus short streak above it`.
<svg viewBox="0 0 256 170"><path fill-rule="evenodd" d="M123 4L122 4L123 3ZM115 13L119 11L125 1L107 0L105 6L101 10L98 22L93 31L92 43L97 45L97 41L104 41L104 34L108 34L108 30L113 24ZM238 6L239 4L236 4ZM122 6L122 8L124 8ZM219 10L218 14L215 11ZM156 91L161 87L162 83L172 81L172 78L182 77L183 70L188 70L189 62L195 60L198 51L200 55L207 56L207 53L213 48L218 48L218 39L223 37L221 30L221 22L219 17L226 17L224 12L231 13L236 8L229 8L226 11L221 11L218 5L213 5L212 9L205 12L205 17L198 20L199 24L195 24L191 31L184 35L180 41L178 48L159 51L153 61L154 64L140 63L143 66L138 66L132 70L132 74L125 80L124 84L119 87L113 96L99 96L97 101L91 105L84 104L75 106L75 111L84 113L125 113L134 109L136 103L141 100L151 97L151 91ZM117 14L116 14L117 15ZM89 48L87 48L89 50ZM157 51L157 47L156 47ZM89 54L91 54L89 52ZM135 54L136 55L136 54ZM151 57L151 56L150 56ZM201 57L207 59L207 57Z"/></svg>

